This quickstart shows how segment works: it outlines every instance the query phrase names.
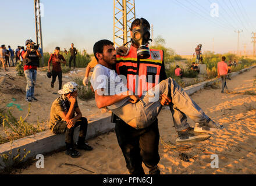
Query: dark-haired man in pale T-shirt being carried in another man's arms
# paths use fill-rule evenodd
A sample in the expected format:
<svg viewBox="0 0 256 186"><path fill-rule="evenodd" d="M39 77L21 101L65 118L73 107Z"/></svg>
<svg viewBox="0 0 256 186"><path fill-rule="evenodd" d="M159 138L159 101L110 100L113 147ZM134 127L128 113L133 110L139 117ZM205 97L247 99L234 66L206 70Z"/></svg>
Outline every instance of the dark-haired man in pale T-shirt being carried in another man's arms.
<svg viewBox="0 0 256 186"><path fill-rule="evenodd" d="M186 94L172 78L161 81L140 99L127 90L122 78L115 73L112 66L116 63L116 51L113 43L101 40L94 44L94 55L98 60L91 84L95 90L95 101L98 108L107 106L115 115L136 129L150 126L161 111L159 95L172 98L173 106L195 121L195 131L211 132L223 128L214 123L201 108ZM211 135L205 134L195 141L207 140ZM187 135L187 140L190 136Z"/></svg>

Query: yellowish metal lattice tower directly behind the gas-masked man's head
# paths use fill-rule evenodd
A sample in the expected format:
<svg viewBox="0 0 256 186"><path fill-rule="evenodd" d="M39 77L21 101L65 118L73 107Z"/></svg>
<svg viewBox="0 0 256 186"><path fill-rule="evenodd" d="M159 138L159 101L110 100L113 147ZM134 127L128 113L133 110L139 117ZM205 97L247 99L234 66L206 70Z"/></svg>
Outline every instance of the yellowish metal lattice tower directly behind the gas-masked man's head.
<svg viewBox="0 0 256 186"><path fill-rule="evenodd" d="M131 37L129 28L134 19L134 0L114 0L113 42L115 47L126 44Z"/></svg>

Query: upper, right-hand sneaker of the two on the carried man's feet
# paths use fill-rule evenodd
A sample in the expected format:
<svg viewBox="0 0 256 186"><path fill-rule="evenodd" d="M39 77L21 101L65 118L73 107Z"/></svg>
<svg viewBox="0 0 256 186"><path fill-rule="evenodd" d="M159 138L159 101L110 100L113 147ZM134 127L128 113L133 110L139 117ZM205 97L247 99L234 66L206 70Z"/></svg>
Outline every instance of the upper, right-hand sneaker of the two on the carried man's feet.
<svg viewBox="0 0 256 186"><path fill-rule="evenodd" d="M195 123L195 132L199 132L199 133L211 133L223 128L224 128L223 125L219 123L215 123L211 119L209 119L208 121L205 119Z"/></svg>

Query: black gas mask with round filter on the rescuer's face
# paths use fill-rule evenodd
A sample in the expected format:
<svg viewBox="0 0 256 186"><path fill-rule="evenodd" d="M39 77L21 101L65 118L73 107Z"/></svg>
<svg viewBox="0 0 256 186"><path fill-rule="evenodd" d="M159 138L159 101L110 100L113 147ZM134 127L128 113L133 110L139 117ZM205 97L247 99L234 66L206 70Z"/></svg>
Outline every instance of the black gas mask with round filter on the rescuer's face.
<svg viewBox="0 0 256 186"><path fill-rule="evenodd" d="M137 45L137 57L139 59L147 59L150 58L150 48L148 48L148 41L152 41L150 39L150 28L145 26L145 21L147 20L141 18L140 26L136 26L131 35L131 42Z"/></svg>

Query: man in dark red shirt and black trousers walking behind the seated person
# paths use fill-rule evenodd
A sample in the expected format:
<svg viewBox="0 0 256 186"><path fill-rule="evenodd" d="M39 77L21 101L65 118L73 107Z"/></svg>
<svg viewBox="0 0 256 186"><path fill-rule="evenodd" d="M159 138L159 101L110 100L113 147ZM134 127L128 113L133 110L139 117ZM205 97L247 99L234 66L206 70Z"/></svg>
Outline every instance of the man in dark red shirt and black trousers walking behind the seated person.
<svg viewBox="0 0 256 186"><path fill-rule="evenodd" d="M62 87L62 70L61 70L61 63L66 64L65 58L59 54L59 47L55 48L55 53L52 53L50 59L48 60L48 71L50 70L50 63L52 61L52 82L51 87L54 88L54 83L56 81L56 77L58 76L59 79L59 90Z"/></svg>

